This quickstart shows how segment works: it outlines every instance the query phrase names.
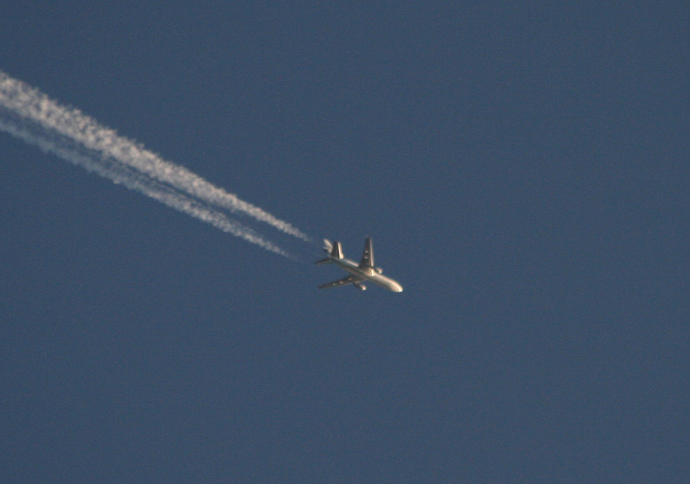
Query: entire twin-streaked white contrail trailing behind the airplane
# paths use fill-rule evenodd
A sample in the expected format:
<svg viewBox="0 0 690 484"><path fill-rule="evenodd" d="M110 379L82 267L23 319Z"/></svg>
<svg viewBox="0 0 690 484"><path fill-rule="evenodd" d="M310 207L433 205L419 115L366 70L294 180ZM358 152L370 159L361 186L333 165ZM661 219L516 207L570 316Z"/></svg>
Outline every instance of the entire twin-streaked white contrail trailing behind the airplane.
<svg viewBox="0 0 690 484"><path fill-rule="evenodd" d="M290 257L255 231L212 207L248 215L284 233L311 241L288 222L240 200L183 166L161 159L92 117L61 106L1 70L0 106L7 111L0 117L0 129L11 135L264 249Z"/></svg>

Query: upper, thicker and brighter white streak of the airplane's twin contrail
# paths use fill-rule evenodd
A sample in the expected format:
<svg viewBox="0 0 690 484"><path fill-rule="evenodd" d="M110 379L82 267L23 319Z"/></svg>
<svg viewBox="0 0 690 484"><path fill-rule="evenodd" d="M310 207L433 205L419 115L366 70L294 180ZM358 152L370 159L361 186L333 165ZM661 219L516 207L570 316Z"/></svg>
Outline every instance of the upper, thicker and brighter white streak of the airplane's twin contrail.
<svg viewBox="0 0 690 484"><path fill-rule="evenodd" d="M75 108L62 106L39 90L9 77L0 70L0 104L20 117L83 144L86 148L113 157L119 162L146 173L149 177L174 186L199 200L222 207L233 213L244 213L266 222L280 231L305 241L311 239L288 222L240 200L236 195L210 184L184 166L167 162L141 144L121 137L115 130L102 126Z"/></svg>

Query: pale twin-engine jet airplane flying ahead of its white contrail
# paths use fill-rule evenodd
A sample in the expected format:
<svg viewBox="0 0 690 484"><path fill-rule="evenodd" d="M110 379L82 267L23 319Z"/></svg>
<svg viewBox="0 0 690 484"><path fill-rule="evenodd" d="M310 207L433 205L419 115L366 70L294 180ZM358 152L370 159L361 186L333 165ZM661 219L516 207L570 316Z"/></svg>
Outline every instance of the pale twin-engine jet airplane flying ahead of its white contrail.
<svg viewBox="0 0 690 484"><path fill-rule="evenodd" d="M362 282L369 281L381 287L385 287L389 291L393 291L395 293L402 292L402 286L400 284L391 278L386 278L385 275L381 274L383 270L374 265L374 251L371 246L371 237L367 237L366 242L364 242L362 261L359 262L359 264L353 260L344 258L343 249L340 242L331 244L329 240L324 239L324 252L328 254L328 257L322 260L317 260L315 264L334 263L348 271L350 275L335 282L322 284L319 286L319 289L353 284L353 286L359 289L359 291L366 291L366 286L362 284Z"/></svg>

